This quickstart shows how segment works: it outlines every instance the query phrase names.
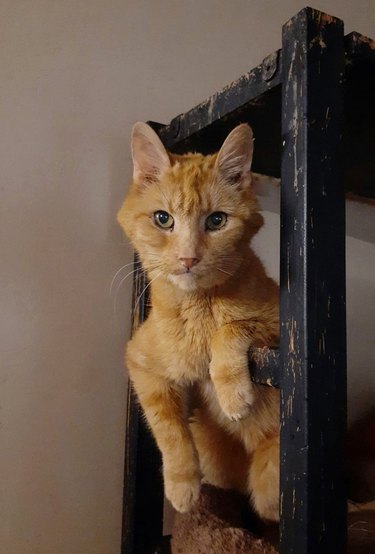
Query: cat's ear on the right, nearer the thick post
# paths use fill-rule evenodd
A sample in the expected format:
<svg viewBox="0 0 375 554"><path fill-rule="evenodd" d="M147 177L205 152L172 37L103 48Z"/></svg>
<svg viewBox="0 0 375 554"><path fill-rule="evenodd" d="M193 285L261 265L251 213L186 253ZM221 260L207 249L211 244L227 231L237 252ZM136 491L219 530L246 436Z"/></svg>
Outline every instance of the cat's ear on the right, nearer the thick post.
<svg viewBox="0 0 375 554"><path fill-rule="evenodd" d="M232 184L243 182L244 177L249 177L253 150L251 127L246 123L235 127L225 139L216 158L220 177Z"/></svg>

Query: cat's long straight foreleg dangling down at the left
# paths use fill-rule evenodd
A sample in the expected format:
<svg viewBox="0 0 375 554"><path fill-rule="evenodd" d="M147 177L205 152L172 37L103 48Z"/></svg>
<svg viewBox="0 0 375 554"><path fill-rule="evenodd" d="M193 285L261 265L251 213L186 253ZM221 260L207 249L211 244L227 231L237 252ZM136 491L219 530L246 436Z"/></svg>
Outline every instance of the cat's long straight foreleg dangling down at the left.
<svg viewBox="0 0 375 554"><path fill-rule="evenodd" d="M165 495L179 512L198 499L198 455L185 416L182 387L146 369L138 349L128 345L127 365L134 388L163 457Z"/></svg>

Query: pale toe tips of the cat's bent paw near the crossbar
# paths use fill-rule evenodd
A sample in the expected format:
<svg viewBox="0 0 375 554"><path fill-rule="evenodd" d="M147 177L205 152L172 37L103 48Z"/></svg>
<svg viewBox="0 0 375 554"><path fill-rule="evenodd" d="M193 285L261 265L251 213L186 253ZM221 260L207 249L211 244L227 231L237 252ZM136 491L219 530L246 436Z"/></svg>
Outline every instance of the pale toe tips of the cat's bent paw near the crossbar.
<svg viewBox="0 0 375 554"><path fill-rule="evenodd" d="M254 403L254 390L251 383L233 383L218 392L218 400L225 415L232 421L239 421L249 415Z"/></svg>

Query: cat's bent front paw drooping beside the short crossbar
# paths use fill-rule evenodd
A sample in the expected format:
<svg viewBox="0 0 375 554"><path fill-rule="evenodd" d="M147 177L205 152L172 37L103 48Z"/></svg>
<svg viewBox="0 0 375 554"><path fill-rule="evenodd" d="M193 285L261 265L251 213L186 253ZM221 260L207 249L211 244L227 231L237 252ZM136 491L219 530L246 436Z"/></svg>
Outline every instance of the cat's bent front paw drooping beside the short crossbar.
<svg viewBox="0 0 375 554"><path fill-rule="evenodd" d="M236 374L230 369L221 369L220 372L211 370L211 377L225 415L232 421L239 421L249 415L255 397L247 368Z"/></svg>

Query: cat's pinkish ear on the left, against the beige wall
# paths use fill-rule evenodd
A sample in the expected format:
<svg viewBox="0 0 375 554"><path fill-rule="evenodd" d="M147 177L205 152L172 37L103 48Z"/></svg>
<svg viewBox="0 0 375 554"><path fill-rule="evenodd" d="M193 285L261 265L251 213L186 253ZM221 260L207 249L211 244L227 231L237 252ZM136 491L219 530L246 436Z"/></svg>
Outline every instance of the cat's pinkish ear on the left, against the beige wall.
<svg viewBox="0 0 375 554"><path fill-rule="evenodd" d="M171 166L163 143L146 123L138 121L133 125L131 149L136 183L152 182Z"/></svg>

